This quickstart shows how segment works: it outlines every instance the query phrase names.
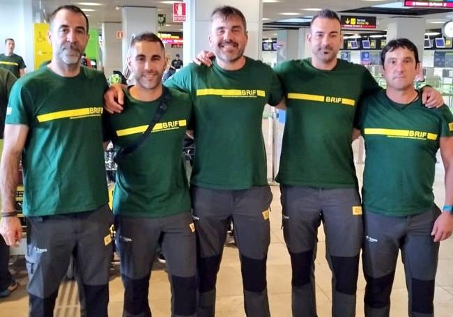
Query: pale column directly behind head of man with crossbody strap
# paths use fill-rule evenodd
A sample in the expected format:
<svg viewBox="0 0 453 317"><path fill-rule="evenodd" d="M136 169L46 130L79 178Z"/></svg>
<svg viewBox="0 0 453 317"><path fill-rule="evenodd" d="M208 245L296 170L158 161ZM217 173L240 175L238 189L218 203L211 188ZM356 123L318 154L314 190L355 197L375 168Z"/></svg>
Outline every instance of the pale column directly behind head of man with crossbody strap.
<svg viewBox="0 0 453 317"><path fill-rule="evenodd" d="M128 50L132 35L144 31L158 33L158 8L123 6L123 68L128 56Z"/></svg>

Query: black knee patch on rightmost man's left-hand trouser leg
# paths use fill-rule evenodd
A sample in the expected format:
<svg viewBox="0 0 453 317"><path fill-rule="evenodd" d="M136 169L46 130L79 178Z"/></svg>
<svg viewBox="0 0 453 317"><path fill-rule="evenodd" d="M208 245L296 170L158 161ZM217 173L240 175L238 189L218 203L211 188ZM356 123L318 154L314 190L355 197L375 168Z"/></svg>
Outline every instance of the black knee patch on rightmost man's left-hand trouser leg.
<svg viewBox="0 0 453 317"><path fill-rule="evenodd" d="M365 275L365 279L367 280L364 297L365 305L373 308L383 308L390 305L394 272L377 278Z"/></svg>

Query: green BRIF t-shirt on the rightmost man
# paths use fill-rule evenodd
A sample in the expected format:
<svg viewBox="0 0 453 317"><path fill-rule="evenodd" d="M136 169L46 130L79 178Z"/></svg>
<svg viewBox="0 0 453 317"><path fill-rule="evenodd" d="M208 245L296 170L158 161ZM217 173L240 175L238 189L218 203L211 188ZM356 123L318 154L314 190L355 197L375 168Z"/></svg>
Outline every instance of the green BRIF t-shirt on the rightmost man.
<svg viewBox="0 0 453 317"><path fill-rule="evenodd" d="M358 126L366 150L364 211L404 217L431 208L439 138L453 136L450 109L427 109L420 98L397 104L380 91L363 100Z"/></svg>

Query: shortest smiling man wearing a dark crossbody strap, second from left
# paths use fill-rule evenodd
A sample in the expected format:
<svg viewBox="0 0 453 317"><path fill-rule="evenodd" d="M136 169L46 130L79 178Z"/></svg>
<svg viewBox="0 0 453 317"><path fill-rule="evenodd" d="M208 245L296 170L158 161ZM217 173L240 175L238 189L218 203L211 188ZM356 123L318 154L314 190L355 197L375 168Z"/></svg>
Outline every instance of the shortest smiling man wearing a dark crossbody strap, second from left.
<svg viewBox="0 0 453 317"><path fill-rule="evenodd" d="M196 236L182 145L192 111L190 95L162 86L167 66L154 33L131 42L128 66L135 85L124 88L125 110L106 116L118 160L114 190L116 246L125 288L123 316L151 316L148 288L155 250L161 245L171 282L171 316L196 316ZM162 108L163 107L163 108ZM156 113L162 118L143 138Z"/></svg>

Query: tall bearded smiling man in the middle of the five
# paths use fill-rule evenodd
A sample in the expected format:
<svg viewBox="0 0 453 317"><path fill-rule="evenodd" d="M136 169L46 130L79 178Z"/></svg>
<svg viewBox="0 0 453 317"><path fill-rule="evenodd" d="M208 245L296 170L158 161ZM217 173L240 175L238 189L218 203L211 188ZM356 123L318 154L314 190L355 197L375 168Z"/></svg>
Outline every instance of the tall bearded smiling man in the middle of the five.
<svg viewBox="0 0 453 317"><path fill-rule="evenodd" d="M209 42L217 56L213 67L190 64L165 82L190 93L194 105L197 155L191 196L199 247L198 316L215 315L217 272L232 220L245 314L266 317L270 316L266 258L272 194L261 121L266 103L277 105L282 100L282 89L269 66L243 55L247 24L240 10L215 8L210 22ZM114 94L107 94L109 107L122 111L113 101ZM122 98L118 96L121 103Z"/></svg>

